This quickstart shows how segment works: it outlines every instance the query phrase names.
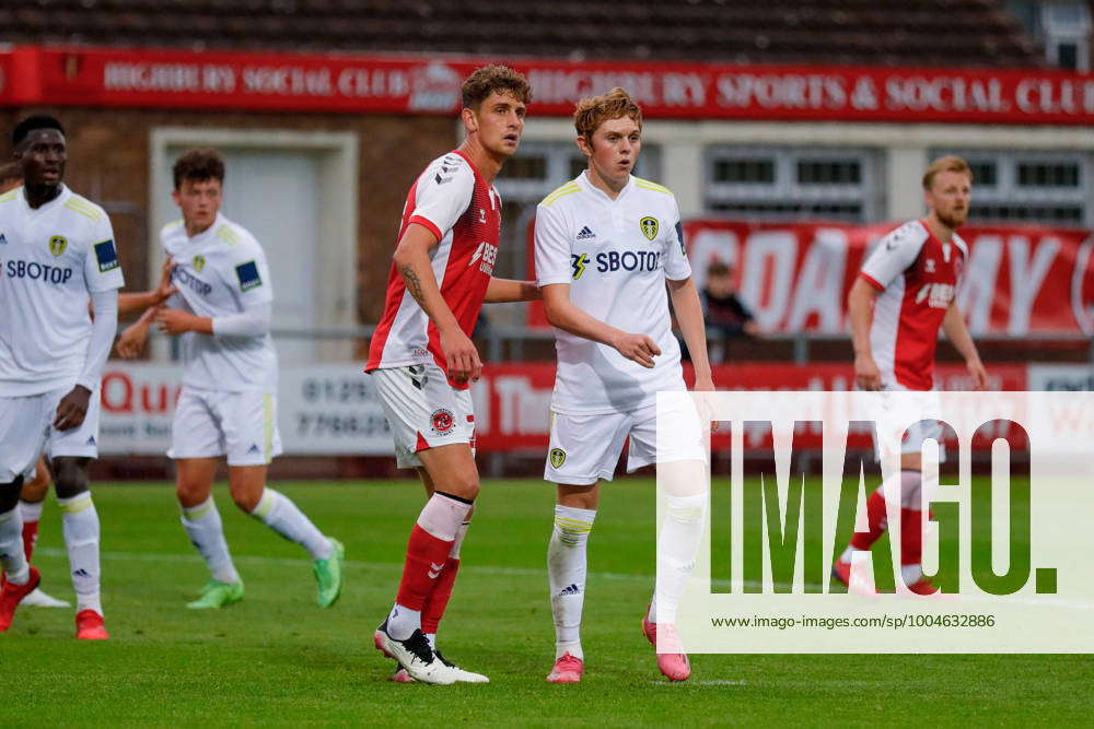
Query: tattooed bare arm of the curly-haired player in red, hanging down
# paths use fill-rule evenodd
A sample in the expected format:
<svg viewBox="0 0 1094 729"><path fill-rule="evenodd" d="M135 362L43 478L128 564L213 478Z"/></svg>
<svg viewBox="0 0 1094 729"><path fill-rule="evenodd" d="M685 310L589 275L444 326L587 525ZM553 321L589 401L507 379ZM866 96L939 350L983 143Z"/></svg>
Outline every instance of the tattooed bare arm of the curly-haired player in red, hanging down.
<svg viewBox="0 0 1094 729"><path fill-rule="evenodd" d="M395 248L395 270L403 277L407 292L437 327L449 374L457 383L477 380L482 374L482 361L441 295L430 264L429 251L437 244L438 237L432 231L410 223Z"/></svg>

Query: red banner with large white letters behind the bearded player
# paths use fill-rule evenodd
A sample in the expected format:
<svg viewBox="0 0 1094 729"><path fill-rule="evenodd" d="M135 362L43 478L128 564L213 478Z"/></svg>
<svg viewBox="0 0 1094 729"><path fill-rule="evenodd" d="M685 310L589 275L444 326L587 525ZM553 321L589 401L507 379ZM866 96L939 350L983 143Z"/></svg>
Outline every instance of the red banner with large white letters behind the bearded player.
<svg viewBox="0 0 1094 729"><path fill-rule="evenodd" d="M731 264L763 332L836 334L847 331L847 292L865 252L895 226L694 220L684 235L696 285L713 261ZM1094 334L1090 232L967 226L961 236L969 262L957 304L974 334ZM529 224L529 261L532 249ZM547 326L542 306L529 307L528 324Z"/></svg>

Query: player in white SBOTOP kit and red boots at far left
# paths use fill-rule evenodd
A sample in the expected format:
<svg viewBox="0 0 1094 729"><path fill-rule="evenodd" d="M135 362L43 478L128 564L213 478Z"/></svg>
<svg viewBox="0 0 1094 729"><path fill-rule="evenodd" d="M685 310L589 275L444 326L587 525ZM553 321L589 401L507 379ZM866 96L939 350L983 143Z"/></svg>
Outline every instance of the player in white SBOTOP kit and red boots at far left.
<svg viewBox="0 0 1094 729"><path fill-rule="evenodd" d="M23 187L0 196L0 632L39 583L26 562L20 486L48 454L77 593L77 637L102 640L98 514L88 463L98 455L98 386L124 285L106 212L62 183L57 119L12 133ZM94 320L89 315L89 302Z"/></svg>

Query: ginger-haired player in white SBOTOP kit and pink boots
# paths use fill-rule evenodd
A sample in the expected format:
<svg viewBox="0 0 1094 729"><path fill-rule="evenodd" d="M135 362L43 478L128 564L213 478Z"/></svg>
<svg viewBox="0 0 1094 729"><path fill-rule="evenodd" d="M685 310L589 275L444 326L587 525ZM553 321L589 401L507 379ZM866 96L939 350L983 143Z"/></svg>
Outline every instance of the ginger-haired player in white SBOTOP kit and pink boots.
<svg viewBox="0 0 1094 729"><path fill-rule="evenodd" d="M702 309L675 197L630 174L642 144L639 106L614 89L580 102L574 126L589 167L539 203L535 226L536 274L558 350L544 474L558 484L547 551L556 662L547 680L574 683L584 671L586 540L600 483L612 480L629 437L628 470L657 462L668 484L656 587L642 628L655 646L661 634L659 648L675 646L659 652L657 667L682 681L690 665L675 637L676 608L698 549L709 479L694 410L674 412L667 432L676 437L657 443L656 393L686 389L670 296L691 352L695 389L714 389Z"/></svg>

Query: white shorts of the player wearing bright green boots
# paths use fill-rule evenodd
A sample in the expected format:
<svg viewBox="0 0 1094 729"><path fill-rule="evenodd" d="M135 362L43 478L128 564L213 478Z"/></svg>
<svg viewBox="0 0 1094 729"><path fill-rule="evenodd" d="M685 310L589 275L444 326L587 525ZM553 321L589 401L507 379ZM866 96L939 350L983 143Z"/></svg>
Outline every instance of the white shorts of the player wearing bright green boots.
<svg viewBox="0 0 1094 729"><path fill-rule="evenodd" d="M184 387L175 405L167 457L217 458L229 466L266 466L281 454L277 396Z"/></svg>

